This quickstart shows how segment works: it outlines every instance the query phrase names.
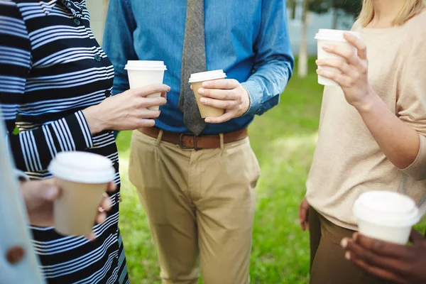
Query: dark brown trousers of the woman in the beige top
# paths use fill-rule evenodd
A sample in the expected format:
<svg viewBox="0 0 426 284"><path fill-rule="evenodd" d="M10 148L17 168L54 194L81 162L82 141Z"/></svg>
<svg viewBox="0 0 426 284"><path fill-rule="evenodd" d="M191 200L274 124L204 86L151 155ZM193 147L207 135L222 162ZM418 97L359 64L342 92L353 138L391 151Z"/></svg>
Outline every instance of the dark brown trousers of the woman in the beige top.
<svg viewBox="0 0 426 284"><path fill-rule="evenodd" d="M322 217L314 208L309 210L311 273L310 284L385 284L344 258L340 242L355 231L344 229Z"/></svg>

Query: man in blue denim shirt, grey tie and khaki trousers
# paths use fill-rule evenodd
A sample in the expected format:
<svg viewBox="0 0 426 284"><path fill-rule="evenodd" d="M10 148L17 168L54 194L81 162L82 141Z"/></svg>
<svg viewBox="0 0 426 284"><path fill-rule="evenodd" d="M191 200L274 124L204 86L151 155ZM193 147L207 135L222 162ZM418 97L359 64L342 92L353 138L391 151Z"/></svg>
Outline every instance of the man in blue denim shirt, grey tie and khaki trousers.
<svg viewBox="0 0 426 284"><path fill-rule="evenodd" d="M179 108L189 79L182 77L182 58L194 54L191 45L200 46L187 41L199 36L192 21L204 22L200 66L227 75L200 89L204 104L226 109L205 120L200 136L190 133ZM128 60L162 60L168 67L168 104L156 128L133 133L129 165L163 283L197 283L198 258L204 283L249 283L260 169L246 129L255 114L278 104L293 72L285 1L110 0L104 50L115 67L114 93L129 89Z"/></svg>

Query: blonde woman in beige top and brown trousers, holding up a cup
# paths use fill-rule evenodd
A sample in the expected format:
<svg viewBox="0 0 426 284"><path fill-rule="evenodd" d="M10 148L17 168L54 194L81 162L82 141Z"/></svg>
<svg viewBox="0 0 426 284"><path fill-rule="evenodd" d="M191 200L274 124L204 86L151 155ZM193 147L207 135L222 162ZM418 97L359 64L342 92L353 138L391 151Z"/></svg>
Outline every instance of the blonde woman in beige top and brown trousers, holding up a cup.
<svg viewBox="0 0 426 284"><path fill-rule="evenodd" d="M383 283L344 261L339 246L356 231L354 201L392 190L420 204L426 194L426 2L364 0L354 50L324 50L344 60L317 60L340 87L325 87L315 156L300 205L310 228L311 284ZM368 58L368 60L367 60Z"/></svg>

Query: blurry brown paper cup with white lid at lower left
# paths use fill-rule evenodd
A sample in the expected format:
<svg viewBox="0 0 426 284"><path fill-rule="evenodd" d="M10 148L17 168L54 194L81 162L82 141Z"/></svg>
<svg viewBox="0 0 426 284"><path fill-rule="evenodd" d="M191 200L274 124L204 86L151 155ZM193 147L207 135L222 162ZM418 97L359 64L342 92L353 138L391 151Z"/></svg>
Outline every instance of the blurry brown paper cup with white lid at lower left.
<svg viewBox="0 0 426 284"><path fill-rule="evenodd" d="M48 170L61 189L53 204L55 230L63 235L87 236L108 183L115 178L111 160L93 153L62 152Z"/></svg>

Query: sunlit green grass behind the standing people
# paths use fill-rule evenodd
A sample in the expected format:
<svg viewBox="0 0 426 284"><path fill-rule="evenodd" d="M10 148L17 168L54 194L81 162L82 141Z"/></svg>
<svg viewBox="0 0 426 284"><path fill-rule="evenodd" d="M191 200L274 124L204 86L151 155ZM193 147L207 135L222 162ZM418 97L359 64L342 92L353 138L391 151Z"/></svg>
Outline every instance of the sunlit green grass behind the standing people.
<svg viewBox="0 0 426 284"><path fill-rule="evenodd" d="M315 62L310 75L290 80L280 104L250 126L253 149L262 168L257 187L251 256L251 283L307 283L309 239L300 230L297 208L317 139L322 87ZM120 229L131 283L157 284L160 271L146 215L128 179L130 132L118 138L122 196ZM424 226L421 227L421 229ZM237 284L237 283L236 283Z"/></svg>

